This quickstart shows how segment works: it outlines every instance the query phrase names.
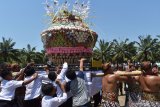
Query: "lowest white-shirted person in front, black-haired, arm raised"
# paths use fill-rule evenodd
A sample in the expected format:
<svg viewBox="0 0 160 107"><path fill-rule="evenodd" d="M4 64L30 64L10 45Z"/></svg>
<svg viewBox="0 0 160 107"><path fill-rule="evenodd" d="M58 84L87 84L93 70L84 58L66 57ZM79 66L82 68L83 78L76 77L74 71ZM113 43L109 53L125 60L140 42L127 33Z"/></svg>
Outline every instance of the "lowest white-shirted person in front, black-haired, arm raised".
<svg viewBox="0 0 160 107"><path fill-rule="evenodd" d="M59 84L59 83L58 83ZM56 94L56 88L53 84L48 83L43 85L42 93L42 107L58 107L67 100L67 93L65 92L64 85L62 85L63 95L61 97L53 97Z"/></svg>

